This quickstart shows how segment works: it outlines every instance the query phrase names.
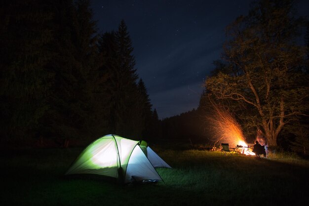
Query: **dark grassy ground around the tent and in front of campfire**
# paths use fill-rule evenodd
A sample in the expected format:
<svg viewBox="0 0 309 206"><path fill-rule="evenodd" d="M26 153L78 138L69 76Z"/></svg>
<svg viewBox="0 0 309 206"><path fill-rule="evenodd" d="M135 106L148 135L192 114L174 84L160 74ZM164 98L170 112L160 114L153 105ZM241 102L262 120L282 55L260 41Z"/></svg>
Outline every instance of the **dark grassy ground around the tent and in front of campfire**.
<svg viewBox="0 0 309 206"><path fill-rule="evenodd" d="M155 150L155 148L153 148ZM74 149L2 150L0 205L222 206L308 205L309 162L292 156L268 159L220 152L161 150L173 167L158 168L164 182L117 185L63 174ZM1 203L2 202L2 203Z"/></svg>

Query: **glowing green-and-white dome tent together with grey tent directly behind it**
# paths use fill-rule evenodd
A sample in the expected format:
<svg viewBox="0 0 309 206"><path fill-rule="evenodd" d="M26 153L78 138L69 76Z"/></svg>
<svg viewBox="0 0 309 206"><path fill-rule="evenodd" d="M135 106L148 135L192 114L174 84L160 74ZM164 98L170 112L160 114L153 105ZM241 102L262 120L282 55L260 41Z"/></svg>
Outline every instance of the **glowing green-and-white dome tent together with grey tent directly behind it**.
<svg viewBox="0 0 309 206"><path fill-rule="evenodd" d="M99 174L124 183L162 180L154 167L170 168L145 141L110 134L88 145L66 174Z"/></svg>

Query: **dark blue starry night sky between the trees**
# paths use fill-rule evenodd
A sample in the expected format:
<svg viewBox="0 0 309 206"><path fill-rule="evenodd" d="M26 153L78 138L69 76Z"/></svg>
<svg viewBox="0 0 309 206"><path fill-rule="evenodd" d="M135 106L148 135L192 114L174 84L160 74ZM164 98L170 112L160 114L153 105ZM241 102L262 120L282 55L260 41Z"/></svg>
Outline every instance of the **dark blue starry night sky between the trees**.
<svg viewBox="0 0 309 206"><path fill-rule="evenodd" d="M247 15L250 0L92 0L100 33L124 19L136 69L159 119L196 108L205 77L220 59L225 28ZM307 15L309 3L297 3Z"/></svg>

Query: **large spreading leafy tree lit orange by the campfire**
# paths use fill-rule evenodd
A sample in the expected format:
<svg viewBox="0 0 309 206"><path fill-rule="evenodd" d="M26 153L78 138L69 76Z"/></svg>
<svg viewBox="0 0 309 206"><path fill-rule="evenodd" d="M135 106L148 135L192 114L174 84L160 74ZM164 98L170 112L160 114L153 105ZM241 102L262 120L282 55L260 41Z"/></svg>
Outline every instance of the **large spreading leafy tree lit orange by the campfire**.
<svg viewBox="0 0 309 206"><path fill-rule="evenodd" d="M306 53L296 43L302 20L293 14L292 0L255 2L227 28L226 68L205 82L217 100L250 111L242 117L263 131L270 146L308 109Z"/></svg>

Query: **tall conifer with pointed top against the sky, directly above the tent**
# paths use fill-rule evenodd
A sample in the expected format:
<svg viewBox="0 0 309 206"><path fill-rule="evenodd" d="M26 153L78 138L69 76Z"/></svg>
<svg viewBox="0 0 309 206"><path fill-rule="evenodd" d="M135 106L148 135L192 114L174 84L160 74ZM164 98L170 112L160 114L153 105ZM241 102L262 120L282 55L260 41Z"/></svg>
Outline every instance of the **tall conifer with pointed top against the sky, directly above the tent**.
<svg viewBox="0 0 309 206"><path fill-rule="evenodd" d="M113 35L113 34L112 34ZM107 35L105 37L111 35ZM134 139L140 139L144 122L142 120L140 94L137 86L138 75L136 74L135 60L132 55L132 42L127 27L122 20L118 31L115 33L116 49L110 44L111 52L108 55L113 60L108 60L111 82L111 114L110 128L112 133L124 135Z"/></svg>

